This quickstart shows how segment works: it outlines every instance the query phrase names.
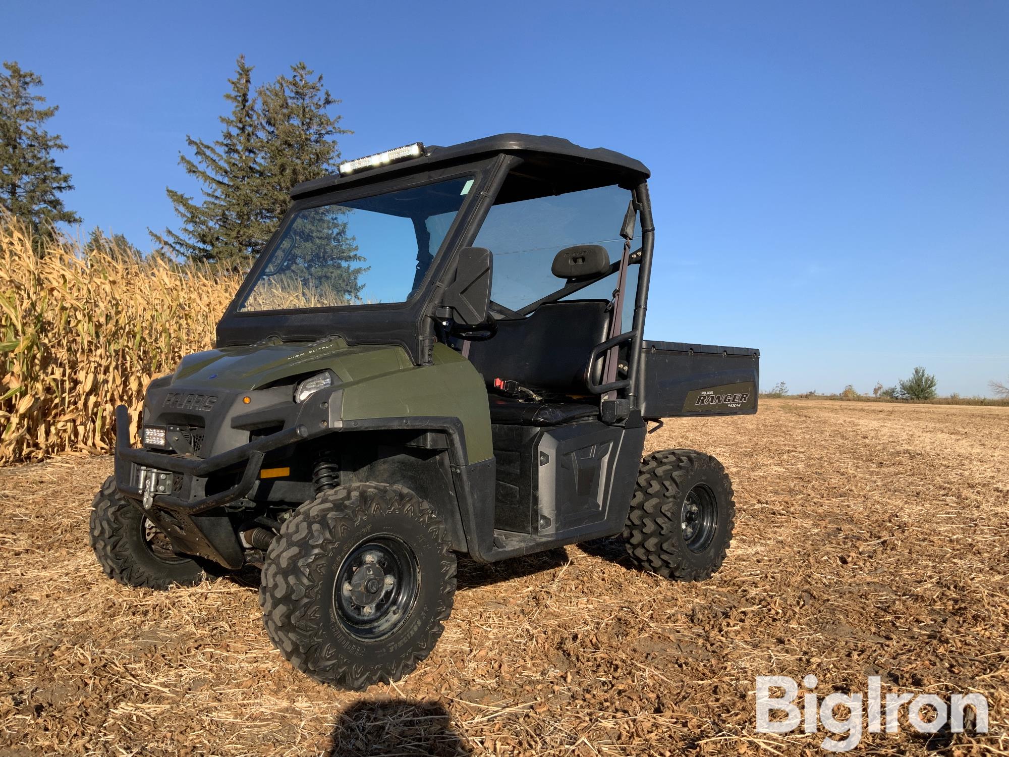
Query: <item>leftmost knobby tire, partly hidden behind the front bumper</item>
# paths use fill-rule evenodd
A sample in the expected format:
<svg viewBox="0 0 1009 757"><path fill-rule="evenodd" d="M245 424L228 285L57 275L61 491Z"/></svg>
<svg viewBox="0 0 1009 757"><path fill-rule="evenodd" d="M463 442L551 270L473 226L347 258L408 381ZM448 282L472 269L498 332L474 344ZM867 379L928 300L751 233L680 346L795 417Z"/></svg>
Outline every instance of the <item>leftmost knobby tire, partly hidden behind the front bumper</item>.
<svg viewBox="0 0 1009 757"><path fill-rule="evenodd" d="M173 583L192 586L204 579L193 558L172 552L167 537L105 479L91 511L91 548L102 570L126 586L165 589Z"/></svg>

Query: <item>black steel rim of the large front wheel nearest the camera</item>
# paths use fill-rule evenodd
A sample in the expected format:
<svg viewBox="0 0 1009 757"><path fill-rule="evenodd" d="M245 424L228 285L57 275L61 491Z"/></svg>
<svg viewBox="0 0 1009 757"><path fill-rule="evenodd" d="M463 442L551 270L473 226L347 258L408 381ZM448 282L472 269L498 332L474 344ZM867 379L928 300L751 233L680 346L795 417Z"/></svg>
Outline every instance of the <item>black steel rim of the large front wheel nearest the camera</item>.
<svg viewBox="0 0 1009 757"><path fill-rule="evenodd" d="M417 600L417 557L391 535L369 537L340 563L333 607L340 624L358 639L393 633Z"/></svg>

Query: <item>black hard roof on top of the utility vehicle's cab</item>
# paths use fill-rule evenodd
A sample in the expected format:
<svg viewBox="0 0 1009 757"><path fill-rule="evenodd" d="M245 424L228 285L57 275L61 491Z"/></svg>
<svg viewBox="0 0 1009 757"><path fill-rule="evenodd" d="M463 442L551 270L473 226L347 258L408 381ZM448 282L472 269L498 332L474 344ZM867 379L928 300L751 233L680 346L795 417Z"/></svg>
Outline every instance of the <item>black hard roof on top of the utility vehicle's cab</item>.
<svg viewBox="0 0 1009 757"><path fill-rule="evenodd" d="M461 142L448 147L426 146L424 154L412 160L403 160L380 169L361 171L347 177L333 174L321 179L302 182L301 184L296 184L291 190L291 196L301 197L311 195L331 187L343 187L366 181L375 175L384 175L391 171L409 171L435 167L440 164L463 163L467 159L498 152L513 152L517 154L537 153L546 158L559 157L566 161L573 160L574 163L590 164L602 170L609 170L619 175L622 180L634 183L648 179L651 176L651 172L649 172L643 163L611 149L605 149L604 147L581 147L557 136L533 136L532 134L509 133L485 136L482 139L473 139L469 142Z"/></svg>

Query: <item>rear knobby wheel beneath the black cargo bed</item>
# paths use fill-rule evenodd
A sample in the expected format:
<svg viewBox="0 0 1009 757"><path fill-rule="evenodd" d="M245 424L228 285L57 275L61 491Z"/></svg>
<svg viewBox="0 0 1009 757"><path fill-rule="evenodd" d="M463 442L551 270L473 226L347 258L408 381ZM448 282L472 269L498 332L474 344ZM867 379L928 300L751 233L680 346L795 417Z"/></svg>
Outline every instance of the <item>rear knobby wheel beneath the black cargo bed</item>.
<svg viewBox="0 0 1009 757"><path fill-rule="evenodd" d="M628 554L640 567L675 580L709 578L725 559L735 525L733 484L714 457L667 449L642 461L624 526Z"/></svg>

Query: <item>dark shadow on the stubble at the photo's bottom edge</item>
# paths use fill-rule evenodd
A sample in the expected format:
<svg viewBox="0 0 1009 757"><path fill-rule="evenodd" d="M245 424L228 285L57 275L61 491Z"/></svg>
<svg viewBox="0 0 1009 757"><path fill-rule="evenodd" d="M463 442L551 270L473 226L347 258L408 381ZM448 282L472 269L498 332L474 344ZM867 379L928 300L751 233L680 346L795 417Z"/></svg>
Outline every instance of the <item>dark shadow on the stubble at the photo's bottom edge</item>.
<svg viewBox="0 0 1009 757"><path fill-rule="evenodd" d="M362 699L340 714L333 728L329 757L433 755L464 757L473 752L452 728L452 718L437 701Z"/></svg>

